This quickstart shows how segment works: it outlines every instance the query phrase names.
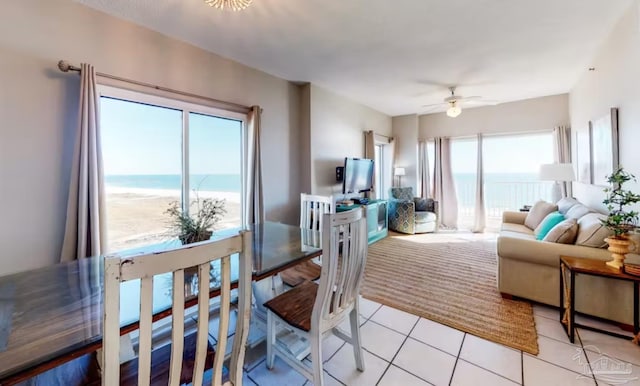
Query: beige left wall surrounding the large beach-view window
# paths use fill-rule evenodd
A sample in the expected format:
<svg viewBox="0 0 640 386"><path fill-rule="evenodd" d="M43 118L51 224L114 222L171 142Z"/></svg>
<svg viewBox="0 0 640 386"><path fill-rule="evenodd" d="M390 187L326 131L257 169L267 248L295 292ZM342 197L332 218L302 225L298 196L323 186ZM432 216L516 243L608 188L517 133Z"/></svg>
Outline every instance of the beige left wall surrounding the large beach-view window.
<svg viewBox="0 0 640 386"><path fill-rule="evenodd" d="M267 219L297 223L298 86L71 1L3 2L0 58L0 275L59 258L79 87L60 59L262 106Z"/></svg>

